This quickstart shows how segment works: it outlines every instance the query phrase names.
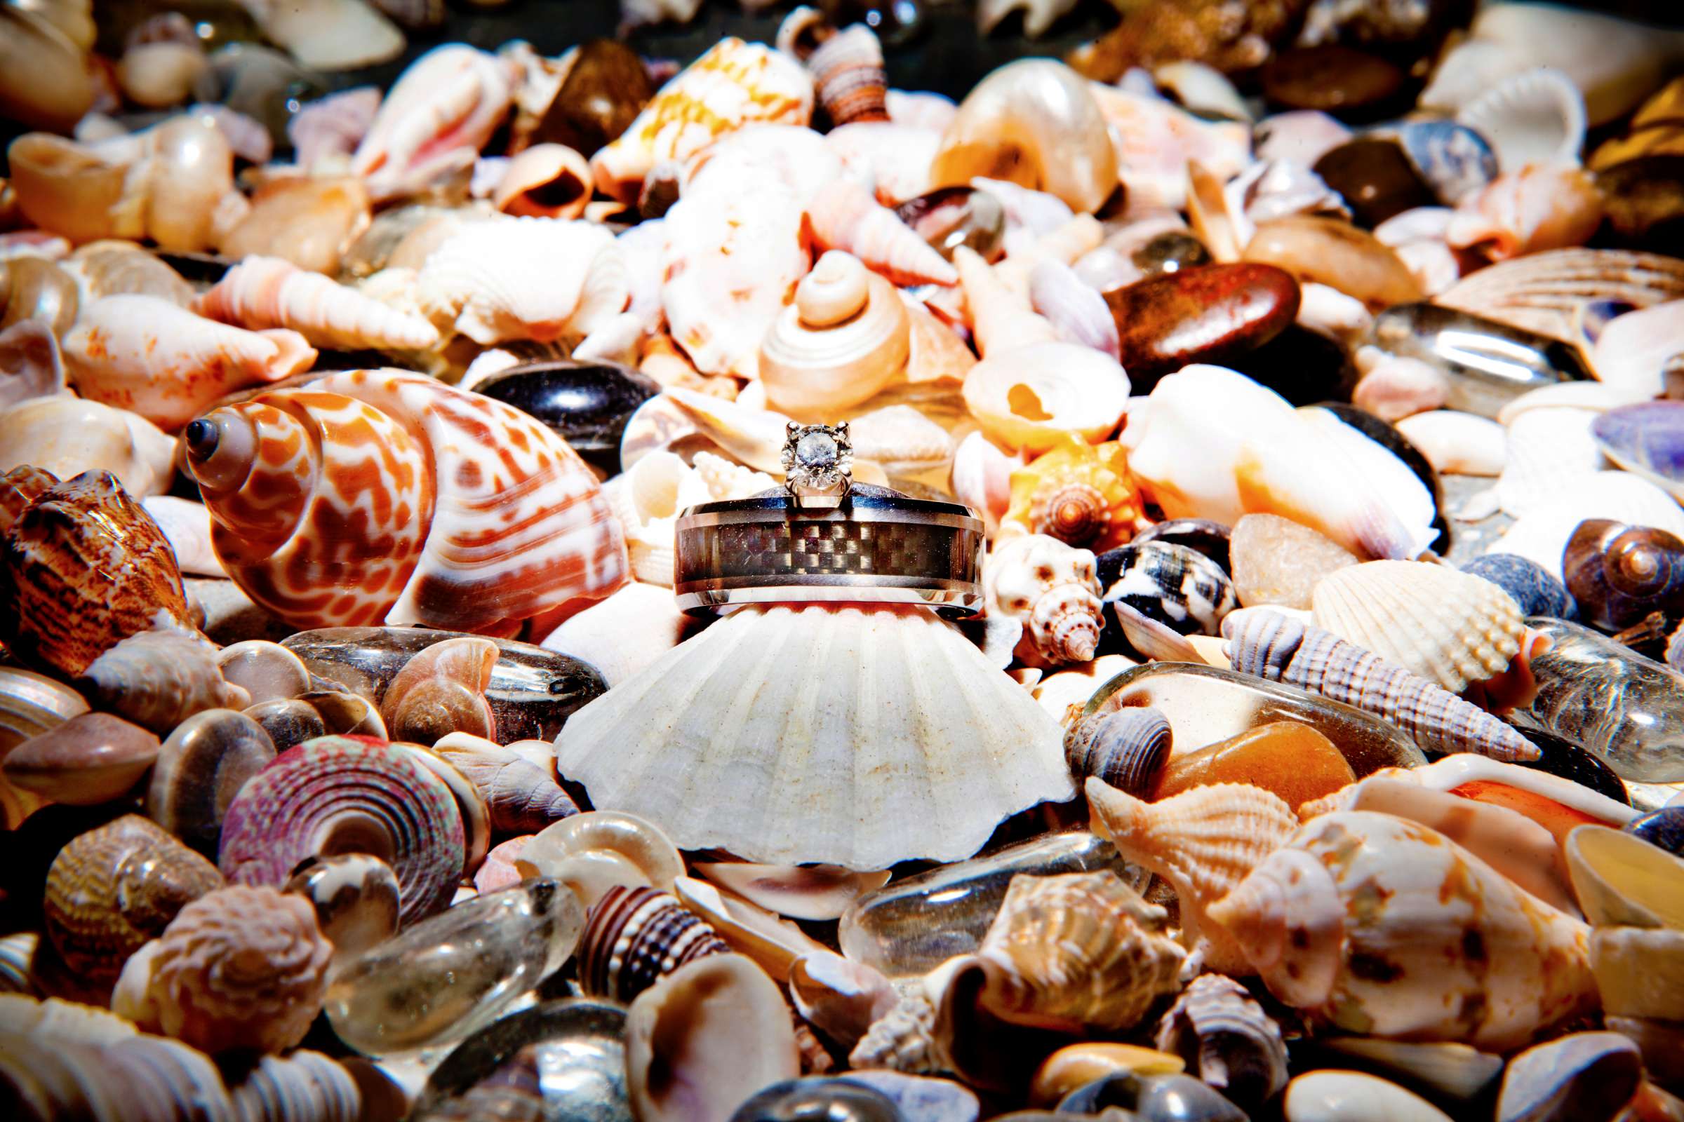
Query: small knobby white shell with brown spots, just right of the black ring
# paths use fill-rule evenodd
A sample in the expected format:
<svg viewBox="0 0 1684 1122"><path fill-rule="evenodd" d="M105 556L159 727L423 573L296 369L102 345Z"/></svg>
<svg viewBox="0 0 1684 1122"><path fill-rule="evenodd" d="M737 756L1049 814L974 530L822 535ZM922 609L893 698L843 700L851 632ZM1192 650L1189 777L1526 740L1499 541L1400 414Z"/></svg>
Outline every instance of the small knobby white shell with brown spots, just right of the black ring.
<svg viewBox="0 0 1684 1122"><path fill-rule="evenodd" d="M982 562L990 616L1024 621L1017 654L1031 664L1086 663L1105 614L1091 550L1044 533L995 542Z"/></svg>

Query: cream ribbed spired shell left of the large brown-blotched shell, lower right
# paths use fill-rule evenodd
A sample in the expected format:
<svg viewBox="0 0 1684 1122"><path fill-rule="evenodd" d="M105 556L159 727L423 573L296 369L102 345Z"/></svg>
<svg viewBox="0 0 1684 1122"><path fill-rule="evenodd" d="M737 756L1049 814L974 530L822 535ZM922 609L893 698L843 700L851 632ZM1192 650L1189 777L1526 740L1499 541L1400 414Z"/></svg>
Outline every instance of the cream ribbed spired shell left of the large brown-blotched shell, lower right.
<svg viewBox="0 0 1684 1122"><path fill-rule="evenodd" d="M1194 787L1160 802L1143 802L1100 779L1090 779L1086 791L1095 833L1175 890L1182 942L1202 940L1207 969L1246 974L1241 945L1206 918L1206 908L1292 836L1298 828L1292 807L1248 784Z"/></svg>

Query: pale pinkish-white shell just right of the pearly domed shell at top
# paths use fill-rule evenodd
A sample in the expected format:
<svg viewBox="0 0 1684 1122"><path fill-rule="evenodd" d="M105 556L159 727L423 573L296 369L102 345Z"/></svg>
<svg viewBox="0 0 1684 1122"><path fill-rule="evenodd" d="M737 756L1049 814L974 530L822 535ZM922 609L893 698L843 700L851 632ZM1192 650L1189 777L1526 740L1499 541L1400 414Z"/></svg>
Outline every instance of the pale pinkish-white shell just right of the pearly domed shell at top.
<svg viewBox="0 0 1684 1122"><path fill-rule="evenodd" d="M1251 163L1251 128L1243 121L1206 121L1165 98L1103 82L1090 82L1088 89L1110 128L1116 175L1132 209L1186 209L1192 163L1218 185Z"/></svg>

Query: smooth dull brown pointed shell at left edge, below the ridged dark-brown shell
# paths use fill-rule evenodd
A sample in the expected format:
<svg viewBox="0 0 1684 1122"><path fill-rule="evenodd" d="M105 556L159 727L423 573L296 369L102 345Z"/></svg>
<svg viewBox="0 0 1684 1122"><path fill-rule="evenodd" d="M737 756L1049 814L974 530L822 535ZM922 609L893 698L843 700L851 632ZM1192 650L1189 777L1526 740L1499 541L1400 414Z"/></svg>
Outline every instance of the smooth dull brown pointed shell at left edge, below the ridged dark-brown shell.
<svg viewBox="0 0 1684 1122"><path fill-rule="evenodd" d="M5 777L69 806L98 806L128 794L152 762L158 738L109 713L81 713L32 737L5 757Z"/></svg>

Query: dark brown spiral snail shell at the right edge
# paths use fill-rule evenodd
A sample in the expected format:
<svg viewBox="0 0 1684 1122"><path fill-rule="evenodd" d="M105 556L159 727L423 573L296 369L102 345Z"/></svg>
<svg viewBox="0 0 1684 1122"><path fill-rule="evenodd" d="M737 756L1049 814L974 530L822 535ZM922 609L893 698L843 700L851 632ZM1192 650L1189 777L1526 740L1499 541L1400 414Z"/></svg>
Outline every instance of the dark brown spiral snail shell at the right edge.
<svg viewBox="0 0 1684 1122"><path fill-rule="evenodd" d="M1603 631L1684 611L1684 542L1665 530L1586 518L1568 538L1561 567L1580 612Z"/></svg>

